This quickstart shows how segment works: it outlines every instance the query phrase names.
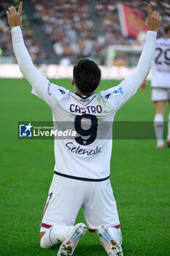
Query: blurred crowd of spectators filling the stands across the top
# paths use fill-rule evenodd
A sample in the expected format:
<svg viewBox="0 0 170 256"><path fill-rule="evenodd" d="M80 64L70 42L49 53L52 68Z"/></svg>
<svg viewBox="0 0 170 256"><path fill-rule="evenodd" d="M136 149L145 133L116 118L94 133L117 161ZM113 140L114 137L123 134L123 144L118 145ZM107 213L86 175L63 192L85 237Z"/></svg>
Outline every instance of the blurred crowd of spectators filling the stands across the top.
<svg viewBox="0 0 170 256"><path fill-rule="evenodd" d="M6 10L11 2L0 2L0 56L13 56L10 33L5 21ZM136 8L147 18L148 1L126 0L122 3ZM161 37L163 28L170 23L169 0L152 0L150 3L162 15L158 35ZM30 4L34 7L31 28L34 30L35 22L42 24L45 40L50 42L48 55L55 56L55 63L69 65L74 64L77 59L90 57L98 64L105 64L108 45L137 43L136 39L121 35L116 0L30 0ZM40 63L45 59L47 49L42 50L41 42L34 36L33 30L25 28L24 39L32 58Z"/></svg>

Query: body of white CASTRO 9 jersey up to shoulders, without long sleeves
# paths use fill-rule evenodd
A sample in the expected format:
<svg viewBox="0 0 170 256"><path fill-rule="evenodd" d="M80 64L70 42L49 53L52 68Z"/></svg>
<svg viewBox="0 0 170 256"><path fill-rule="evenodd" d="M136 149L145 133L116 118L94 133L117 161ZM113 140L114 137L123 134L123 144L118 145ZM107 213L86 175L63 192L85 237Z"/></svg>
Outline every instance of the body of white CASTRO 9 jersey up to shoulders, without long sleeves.
<svg viewBox="0 0 170 256"><path fill-rule="evenodd" d="M31 91L50 105L53 121L61 129L63 124L63 130L68 127L77 132L75 138L55 138L55 173L94 181L109 177L112 122L117 110L136 93L129 83L130 78L107 91L82 97L45 78Z"/></svg>

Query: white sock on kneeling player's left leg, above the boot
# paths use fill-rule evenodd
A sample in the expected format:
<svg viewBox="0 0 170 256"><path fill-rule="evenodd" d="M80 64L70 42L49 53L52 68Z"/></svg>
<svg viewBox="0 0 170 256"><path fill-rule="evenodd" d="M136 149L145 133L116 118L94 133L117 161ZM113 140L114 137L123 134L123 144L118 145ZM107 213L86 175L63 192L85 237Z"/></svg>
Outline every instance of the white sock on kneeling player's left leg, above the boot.
<svg viewBox="0 0 170 256"><path fill-rule="evenodd" d="M59 226L50 227L40 241L42 248L52 248L61 243L72 232L74 226Z"/></svg>

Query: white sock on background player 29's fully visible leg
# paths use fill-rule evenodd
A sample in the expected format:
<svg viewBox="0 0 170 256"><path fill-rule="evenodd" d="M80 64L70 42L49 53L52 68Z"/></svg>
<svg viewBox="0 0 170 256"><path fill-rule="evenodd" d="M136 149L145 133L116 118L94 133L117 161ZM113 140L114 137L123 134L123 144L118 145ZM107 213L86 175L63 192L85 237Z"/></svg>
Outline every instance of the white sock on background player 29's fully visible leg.
<svg viewBox="0 0 170 256"><path fill-rule="evenodd" d="M163 115L155 114L154 129L157 140L157 146L163 146Z"/></svg>

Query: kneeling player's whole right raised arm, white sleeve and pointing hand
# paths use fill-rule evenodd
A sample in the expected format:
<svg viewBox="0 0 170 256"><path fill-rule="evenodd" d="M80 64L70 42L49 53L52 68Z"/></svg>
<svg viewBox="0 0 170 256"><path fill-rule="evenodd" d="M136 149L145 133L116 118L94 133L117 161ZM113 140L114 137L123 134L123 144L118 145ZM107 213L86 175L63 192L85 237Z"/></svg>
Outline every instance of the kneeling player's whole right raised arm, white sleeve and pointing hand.
<svg viewBox="0 0 170 256"><path fill-rule="evenodd" d="M137 89L139 89L139 86L150 72L152 59L155 53L157 32L161 25L161 16L158 12L152 12L150 4L148 4L147 12L147 38L136 69L118 86L107 90L107 94L110 93L112 95L112 97L109 97L109 102L114 107L114 110L121 108L128 99L136 94Z"/></svg>

